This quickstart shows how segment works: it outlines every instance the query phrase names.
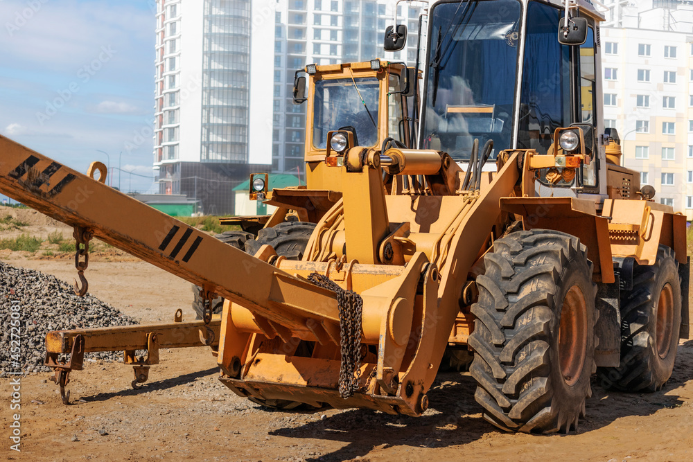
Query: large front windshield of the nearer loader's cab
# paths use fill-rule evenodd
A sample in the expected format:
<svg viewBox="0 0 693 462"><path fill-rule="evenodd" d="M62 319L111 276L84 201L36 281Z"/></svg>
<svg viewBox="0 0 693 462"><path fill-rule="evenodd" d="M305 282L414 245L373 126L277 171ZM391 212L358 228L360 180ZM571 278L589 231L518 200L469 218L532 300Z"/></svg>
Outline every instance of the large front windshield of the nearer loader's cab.
<svg viewBox="0 0 693 462"><path fill-rule="evenodd" d="M439 3L431 12L423 148L468 160L474 139L511 148L517 0Z"/></svg>

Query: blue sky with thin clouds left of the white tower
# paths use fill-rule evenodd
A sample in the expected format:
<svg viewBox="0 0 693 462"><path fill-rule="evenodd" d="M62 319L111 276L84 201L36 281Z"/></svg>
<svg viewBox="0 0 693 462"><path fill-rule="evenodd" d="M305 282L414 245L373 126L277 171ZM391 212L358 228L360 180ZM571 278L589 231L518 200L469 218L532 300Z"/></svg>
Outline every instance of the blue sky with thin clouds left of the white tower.
<svg viewBox="0 0 693 462"><path fill-rule="evenodd" d="M0 0L0 134L80 172L105 151L113 186L119 152L152 177L154 47L153 0Z"/></svg>

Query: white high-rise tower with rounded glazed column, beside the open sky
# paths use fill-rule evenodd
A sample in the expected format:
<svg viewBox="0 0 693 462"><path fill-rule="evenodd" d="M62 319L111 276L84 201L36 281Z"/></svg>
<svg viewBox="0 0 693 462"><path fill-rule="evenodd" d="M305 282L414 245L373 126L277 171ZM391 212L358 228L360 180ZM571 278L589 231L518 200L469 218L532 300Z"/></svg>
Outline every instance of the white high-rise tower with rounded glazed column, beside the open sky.
<svg viewBox="0 0 693 462"><path fill-rule="evenodd" d="M202 213L233 213L233 188L272 160L272 3L157 0L159 193L196 199Z"/></svg>

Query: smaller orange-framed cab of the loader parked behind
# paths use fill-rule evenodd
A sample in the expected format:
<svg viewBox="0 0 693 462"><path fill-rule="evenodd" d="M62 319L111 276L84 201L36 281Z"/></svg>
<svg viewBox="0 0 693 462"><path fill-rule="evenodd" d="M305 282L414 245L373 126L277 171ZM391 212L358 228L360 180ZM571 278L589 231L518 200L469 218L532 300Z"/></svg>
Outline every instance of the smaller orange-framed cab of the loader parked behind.
<svg viewBox="0 0 693 462"><path fill-rule="evenodd" d="M297 77L294 102L307 103L308 188L340 190L339 169L330 167L341 166L344 153L356 145L380 148L387 138L410 145L407 102L414 85L405 64L376 59L311 64L304 71L304 84ZM333 140L334 132L344 136Z"/></svg>

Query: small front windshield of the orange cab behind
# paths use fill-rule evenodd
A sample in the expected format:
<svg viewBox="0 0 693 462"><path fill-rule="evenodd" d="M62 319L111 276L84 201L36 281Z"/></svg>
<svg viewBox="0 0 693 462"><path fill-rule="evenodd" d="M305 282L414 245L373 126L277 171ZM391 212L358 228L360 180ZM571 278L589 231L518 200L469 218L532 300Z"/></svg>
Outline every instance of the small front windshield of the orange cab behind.
<svg viewBox="0 0 693 462"><path fill-rule="evenodd" d="M361 97L373 120L378 123L378 96L380 82L375 77L356 78L356 87L351 78L340 80L318 80L315 82L315 105L313 109L313 145L317 149L327 148L327 132L342 127L354 127L360 146L378 143L378 130L371 121ZM361 96L359 97L359 92Z"/></svg>

